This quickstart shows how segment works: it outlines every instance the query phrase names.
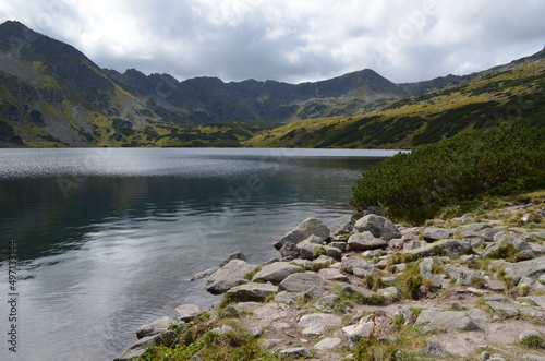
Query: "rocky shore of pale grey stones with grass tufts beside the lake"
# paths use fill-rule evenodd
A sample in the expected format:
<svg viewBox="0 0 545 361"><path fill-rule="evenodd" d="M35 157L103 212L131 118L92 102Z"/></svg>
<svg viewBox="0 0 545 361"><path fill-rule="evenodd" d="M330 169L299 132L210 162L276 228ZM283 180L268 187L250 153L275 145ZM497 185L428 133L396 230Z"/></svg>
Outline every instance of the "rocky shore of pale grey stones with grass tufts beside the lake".
<svg viewBox="0 0 545 361"><path fill-rule="evenodd" d="M291 359L544 361L545 203L532 201L412 228L377 207L329 227L308 218L275 242L279 258L235 252L192 277L223 300L142 326L116 360L175 344L201 320L215 335L237 323Z"/></svg>

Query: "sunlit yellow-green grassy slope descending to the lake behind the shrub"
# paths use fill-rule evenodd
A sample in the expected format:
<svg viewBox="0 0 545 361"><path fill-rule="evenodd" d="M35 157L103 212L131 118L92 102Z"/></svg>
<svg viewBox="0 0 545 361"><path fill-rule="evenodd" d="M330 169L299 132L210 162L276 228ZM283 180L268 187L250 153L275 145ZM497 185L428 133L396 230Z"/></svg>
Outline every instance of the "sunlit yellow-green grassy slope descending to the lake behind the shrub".
<svg viewBox="0 0 545 361"><path fill-rule="evenodd" d="M545 118L545 59L508 64L417 97L379 101L360 117L296 121L246 146L413 148L521 118Z"/></svg>

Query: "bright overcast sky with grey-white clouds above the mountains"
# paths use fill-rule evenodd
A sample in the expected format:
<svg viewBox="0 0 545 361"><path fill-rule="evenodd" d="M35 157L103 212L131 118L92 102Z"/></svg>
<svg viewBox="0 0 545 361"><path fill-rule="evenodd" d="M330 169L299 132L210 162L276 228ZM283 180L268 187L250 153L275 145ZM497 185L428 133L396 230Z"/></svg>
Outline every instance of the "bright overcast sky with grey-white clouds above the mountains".
<svg viewBox="0 0 545 361"><path fill-rule="evenodd" d="M102 68L290 83L468 74L545 45L545 0L2 0Z"/></svg>

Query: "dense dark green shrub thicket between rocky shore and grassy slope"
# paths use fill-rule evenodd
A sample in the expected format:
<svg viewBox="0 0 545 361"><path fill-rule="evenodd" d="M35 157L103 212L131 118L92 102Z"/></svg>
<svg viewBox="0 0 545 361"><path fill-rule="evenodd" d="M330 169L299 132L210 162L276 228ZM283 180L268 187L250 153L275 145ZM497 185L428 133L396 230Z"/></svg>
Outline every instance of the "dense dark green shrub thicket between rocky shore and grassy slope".
<svg viewBox="0 0 545 361"><path fill-rule="evenodd" d="M456 203L545 188L544 139L545 127L518 121L398 154L358 180L350 203L422 224Z"/></svg>

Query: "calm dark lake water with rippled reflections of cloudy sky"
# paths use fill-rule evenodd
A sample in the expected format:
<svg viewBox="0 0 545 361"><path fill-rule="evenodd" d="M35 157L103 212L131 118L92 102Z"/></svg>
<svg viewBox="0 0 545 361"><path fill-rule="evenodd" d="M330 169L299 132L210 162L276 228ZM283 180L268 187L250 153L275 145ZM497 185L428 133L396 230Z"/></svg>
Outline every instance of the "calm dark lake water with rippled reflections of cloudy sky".
<svg viewBox="0 0 545 361"><path fill-rule="evenodd" d="M307 217L351 213L392 151L0 149L1 360L111 360L143 324L219 300L193 274L241 250L259 264ZM17 250L17 353L9 244Z"/></svg>

